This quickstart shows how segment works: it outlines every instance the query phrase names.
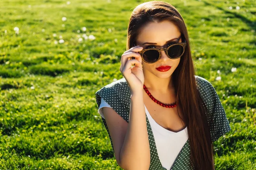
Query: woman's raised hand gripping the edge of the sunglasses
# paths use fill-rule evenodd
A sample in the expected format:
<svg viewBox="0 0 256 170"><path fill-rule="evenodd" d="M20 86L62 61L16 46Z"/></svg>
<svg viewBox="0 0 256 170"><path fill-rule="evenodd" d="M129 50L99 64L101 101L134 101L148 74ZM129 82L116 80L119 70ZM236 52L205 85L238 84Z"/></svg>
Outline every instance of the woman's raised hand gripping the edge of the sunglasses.
<svg viewBox="0 0 256 170"><path fill-rule="evenodd" d="M142 69L142 57L138 53L143 50L139 45L125 51L121 57L120 71L128 83L131 93L143 91L144 74ZM136 59L128 59L135 57ZM134 67L131 67L135 64Z"/></svg>

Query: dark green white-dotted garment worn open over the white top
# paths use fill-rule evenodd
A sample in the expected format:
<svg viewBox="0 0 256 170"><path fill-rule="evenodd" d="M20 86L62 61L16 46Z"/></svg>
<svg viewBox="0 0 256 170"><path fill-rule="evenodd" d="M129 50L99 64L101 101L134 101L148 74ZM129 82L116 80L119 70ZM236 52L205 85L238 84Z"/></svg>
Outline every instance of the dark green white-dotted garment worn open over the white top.
<svg viewBox="0 0 256 170"><path fill-rule="evenodd" d="M226 117L221 101L218 97L213 86L206 79L195 76L197 89L200 93L201 98L207 106L207 119L210 126L210 133L212 142L218 140L222 135L231 130L229 122ZM112 82L95 93L96 102L98 108L101 104L101 98L111 106L111 108L116 111L126 122L129 122L129 113L130 113L130 103L131 103L131 91L126 82L125 78L119 79L115 82ZM147 130L148 130L148 139L150 145L150 167L149 170L166 170L162 166L159 156L157 154L157 147L154 140L154 135L151 130L148 117L146 116ZM210 120L213 120L213 123ZM102 122L105 125L105 128L108 132L108 136L111 141L111 146L113 149L113 142L108 130L108 126L104 118ZM113 149L114 150L114 149ZM184 144L183 148L180 150L180 153L177 155L174 163L170 170L193 170L194 166L190 165L190 147L189 139Z"/></svg>

